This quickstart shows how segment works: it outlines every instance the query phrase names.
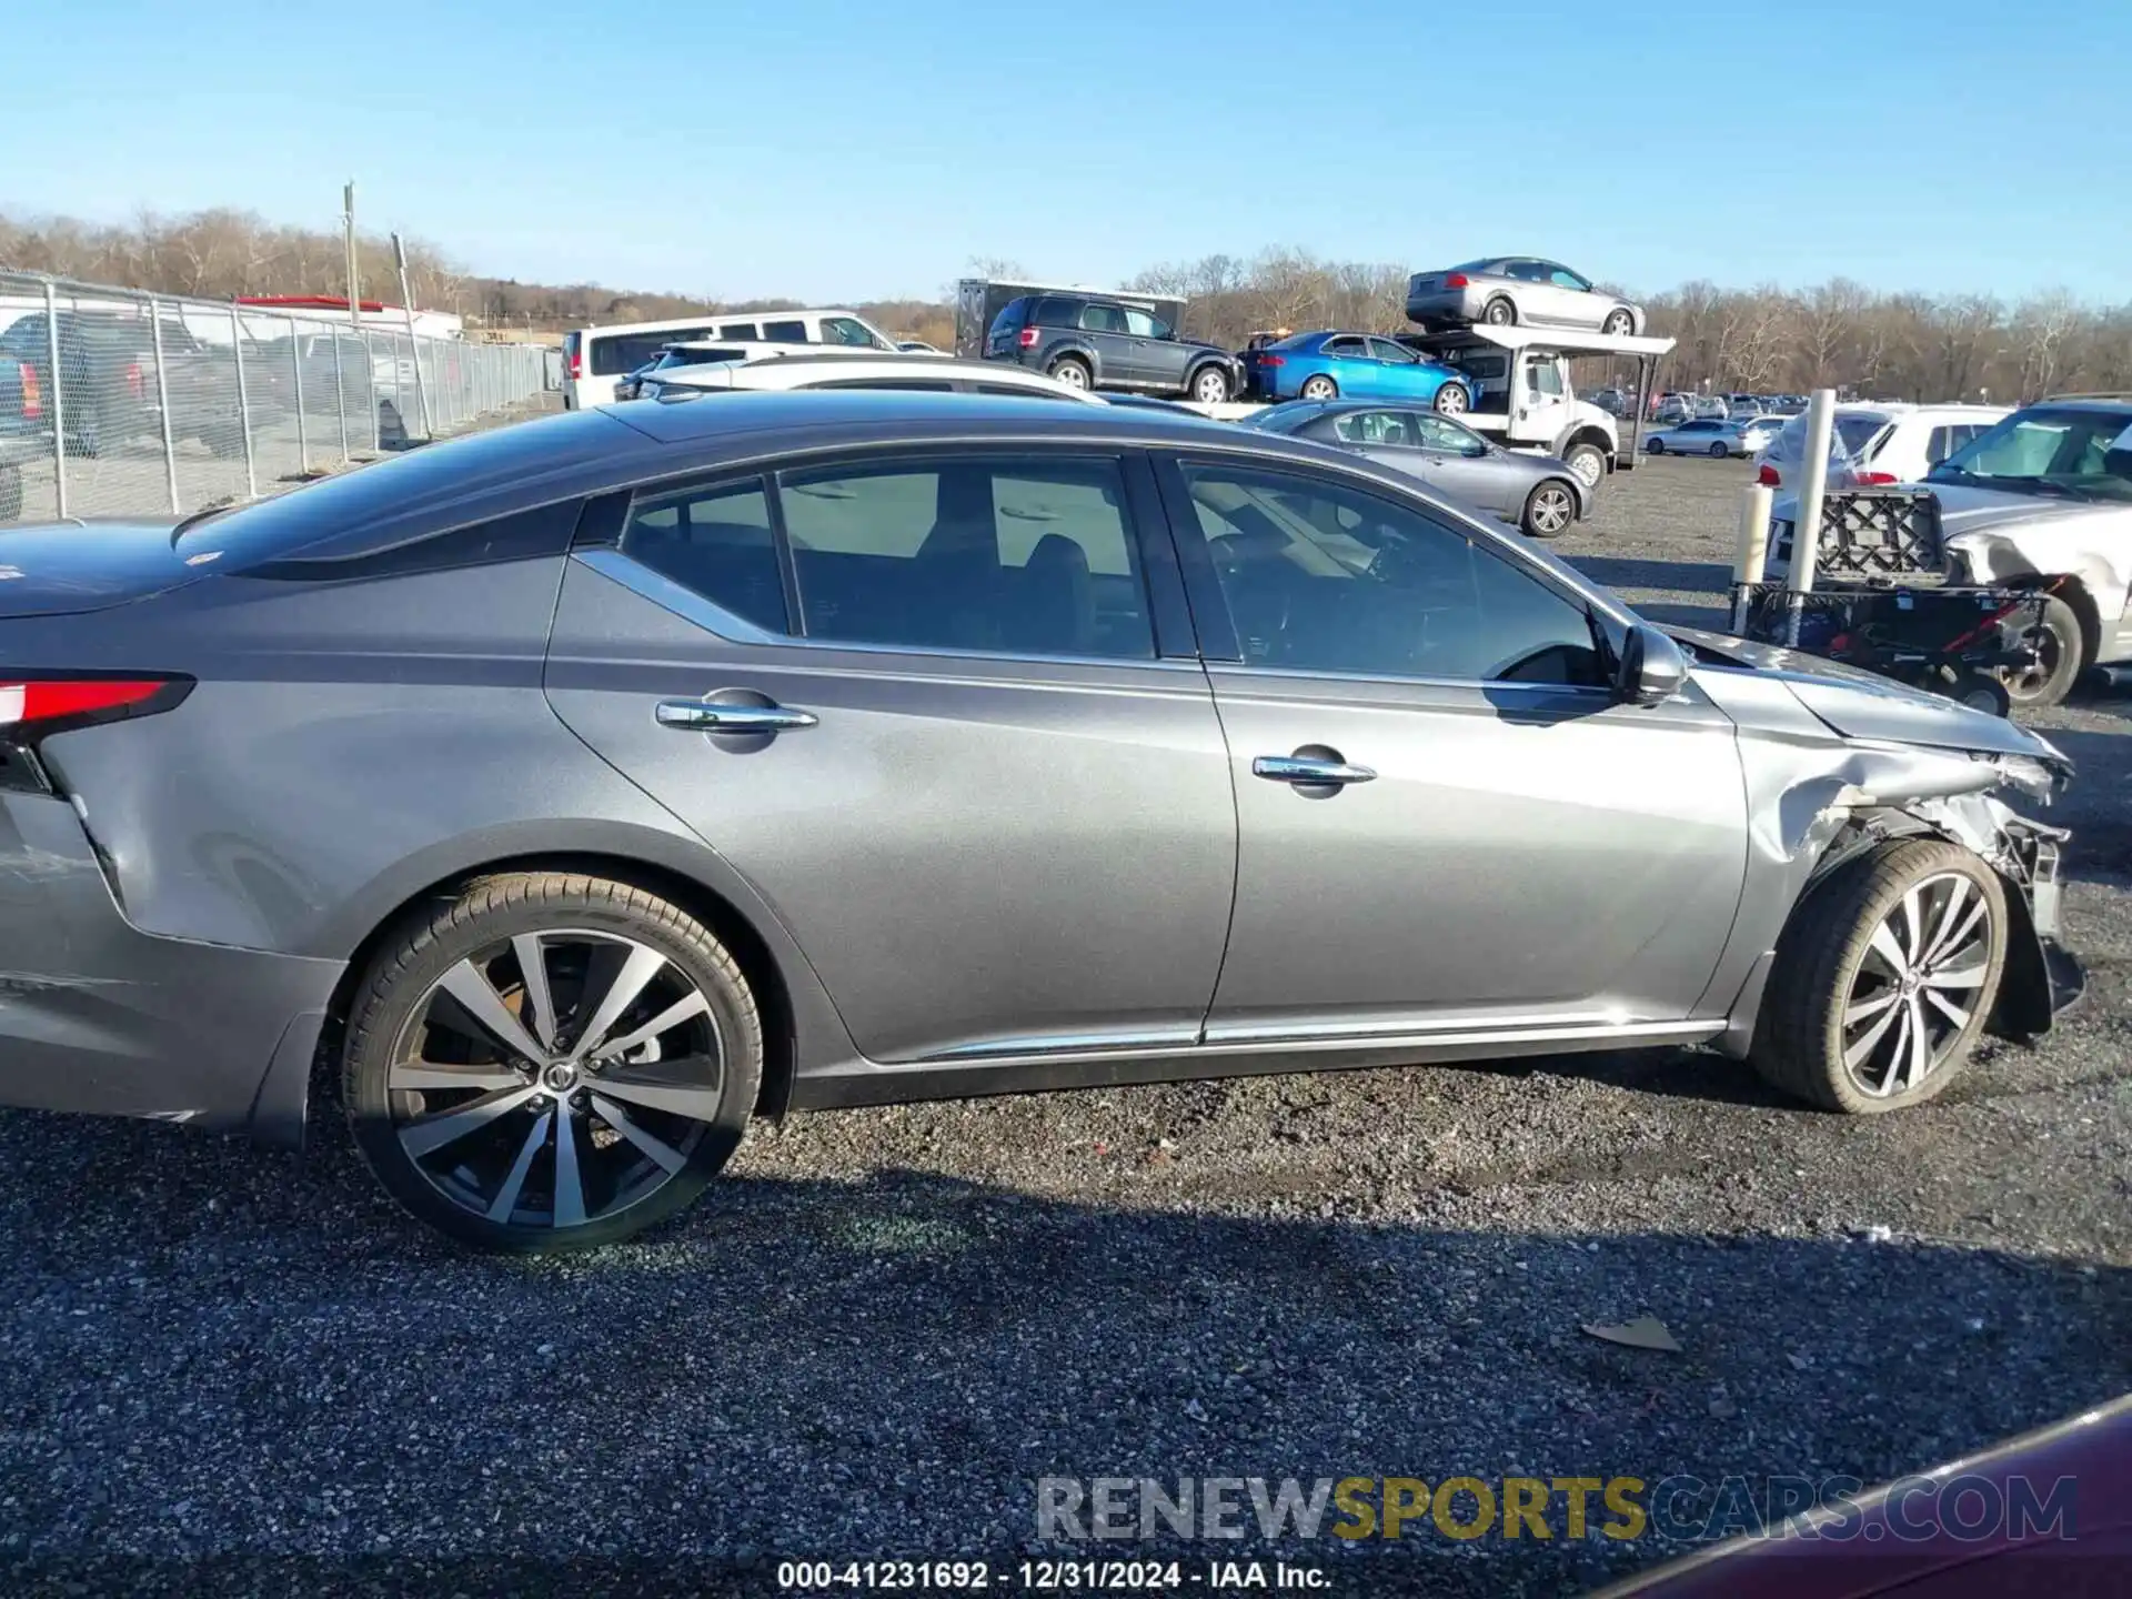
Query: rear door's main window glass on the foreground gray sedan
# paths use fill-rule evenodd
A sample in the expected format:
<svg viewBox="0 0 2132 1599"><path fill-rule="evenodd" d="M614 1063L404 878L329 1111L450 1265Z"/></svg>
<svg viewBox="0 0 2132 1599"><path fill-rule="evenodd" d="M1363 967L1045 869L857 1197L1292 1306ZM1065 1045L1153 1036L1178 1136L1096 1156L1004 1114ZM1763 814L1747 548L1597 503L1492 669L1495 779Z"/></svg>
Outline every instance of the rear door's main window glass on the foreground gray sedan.
<svg viewBox="0 0 2132 1599"><path fill-rule="evenodd" d="M814 640L1151 659L1115 461L795 473L780 503Z"/></svg>

